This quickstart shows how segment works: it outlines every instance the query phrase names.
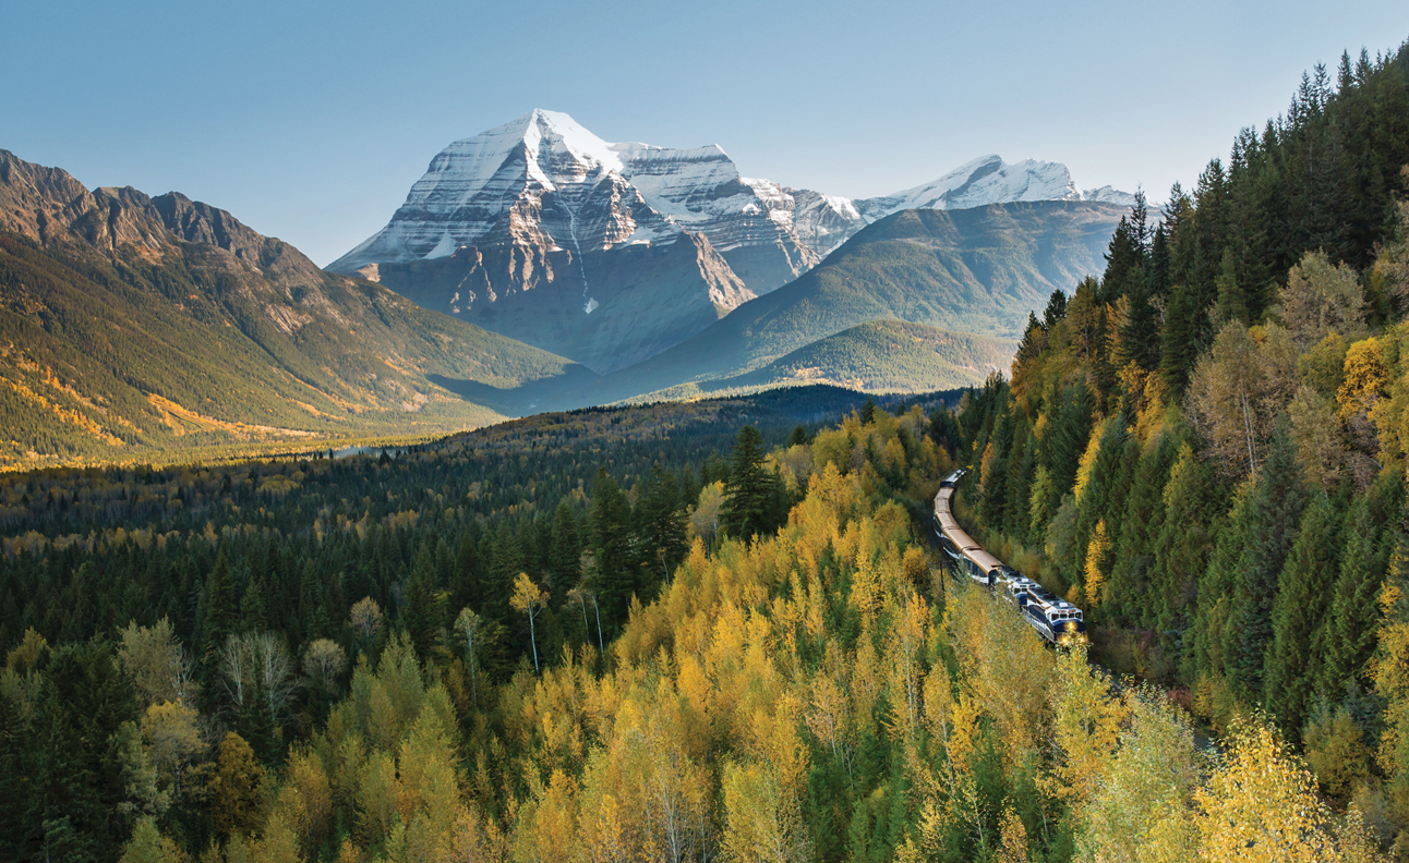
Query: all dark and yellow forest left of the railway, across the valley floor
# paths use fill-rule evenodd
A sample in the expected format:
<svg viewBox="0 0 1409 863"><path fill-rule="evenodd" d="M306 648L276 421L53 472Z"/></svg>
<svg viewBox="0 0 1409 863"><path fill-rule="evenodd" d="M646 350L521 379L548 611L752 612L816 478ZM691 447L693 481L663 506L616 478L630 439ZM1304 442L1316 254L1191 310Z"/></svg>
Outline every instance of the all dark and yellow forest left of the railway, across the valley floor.
<svg viewBox="0 0 1409 863"><path fill-rule="evenodd" d="M221 515L199 534L11 541L7 608L18 580L66 612L27 605L38 628L0 677L0 850L1213 863L1251 843L1378 859L1365 818L1319 800L1267 724L1244 719L1209 762L1177 693L1116 688L1082 650L945 584L912 521L952 465L938 441L954 421L895 411L795 428L766 458L779 436L745 425L690 507L658 434L597 449L631 473L597 473L589 496L571 448L544 452L590 452L617 417L650 428L621 411L538 424L527 452L486 436L404 462L255 466L228 490L201 477ZM665 458L637 481L643 455ZM480 504L478 480L459 497L476 465L530 491L561 472L569 493L516 532L520 504ZM692 472L679 484L693 493ZM475 543L482 517L503 527Z"/></svg>

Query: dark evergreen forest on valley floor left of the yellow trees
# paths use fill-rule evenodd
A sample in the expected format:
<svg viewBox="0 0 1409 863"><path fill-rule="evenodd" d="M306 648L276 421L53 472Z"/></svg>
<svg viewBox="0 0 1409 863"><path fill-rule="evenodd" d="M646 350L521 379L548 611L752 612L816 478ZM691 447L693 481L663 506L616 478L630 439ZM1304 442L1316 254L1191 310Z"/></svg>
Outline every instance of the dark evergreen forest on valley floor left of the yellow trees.
<svg viewBox="0 0 1409 863"><path fill-rule="evenodd" d="M689 541L775 531L812 469L783 420L837 398L858 397L573 411L397 458L13 479L6 856L116 859L142 817L192 852L238 833L244 817L224 819L259 791L241 783L337 722L358 667L444 679L457 733L499 725L509 680L600 656ZM762 428L733 434L743 417ZM213 746L225 733L242 760Z"/></svg>

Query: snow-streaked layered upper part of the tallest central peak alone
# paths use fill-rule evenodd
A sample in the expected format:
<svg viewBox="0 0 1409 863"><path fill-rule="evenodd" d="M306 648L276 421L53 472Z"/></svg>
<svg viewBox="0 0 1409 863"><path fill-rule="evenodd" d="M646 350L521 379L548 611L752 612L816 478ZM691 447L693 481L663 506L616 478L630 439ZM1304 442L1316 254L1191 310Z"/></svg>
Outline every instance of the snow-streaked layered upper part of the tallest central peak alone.
<svg viewBox="0 0 1409 863"><path fill-rule="evenodd" d="M566 114L531 111L445 148L386 228L328 269L504 244L527 259L557 249L582 258L669 245L692 231L730 263L748 259L751 289L766 291L817 262L792 231L790 210L785 190L744 180L719 146L607 144Z"/></svg>

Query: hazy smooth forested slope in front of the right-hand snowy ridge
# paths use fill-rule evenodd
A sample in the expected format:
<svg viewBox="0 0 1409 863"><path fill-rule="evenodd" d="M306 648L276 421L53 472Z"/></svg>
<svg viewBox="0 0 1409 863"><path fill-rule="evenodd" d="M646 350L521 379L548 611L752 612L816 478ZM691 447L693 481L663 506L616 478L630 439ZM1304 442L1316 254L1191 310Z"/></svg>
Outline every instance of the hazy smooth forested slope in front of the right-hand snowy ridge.
<svg viewBox="0 0 1409 863"><path fill-rule="evenodd" d="M1103 269L1126 208L1092 201L906 210L812 272L675 348L602 380L603 398L737 377L867 321L1014 339L1057 289Z"/></svg>

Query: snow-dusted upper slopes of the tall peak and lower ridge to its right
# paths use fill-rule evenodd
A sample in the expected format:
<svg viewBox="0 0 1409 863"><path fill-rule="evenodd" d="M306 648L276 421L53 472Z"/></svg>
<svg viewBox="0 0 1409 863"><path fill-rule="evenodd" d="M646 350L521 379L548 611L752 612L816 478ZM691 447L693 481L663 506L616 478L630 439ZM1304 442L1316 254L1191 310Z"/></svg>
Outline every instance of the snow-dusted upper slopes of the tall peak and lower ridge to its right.
<svg viewBox="0 0 1409 863"><path fill-rule="evenodd" d="M931 183L852 200L744 177L713 144L610 144L568 114L540 108L437 153L392 221L328 269L437 259L485 244L523 248L526 259L528 246L581 258L695 231L765 293L899 210L1038 200L1131 204L1134 196L1110 186L1082 191L1057 162L989 155Z"/></svg>

